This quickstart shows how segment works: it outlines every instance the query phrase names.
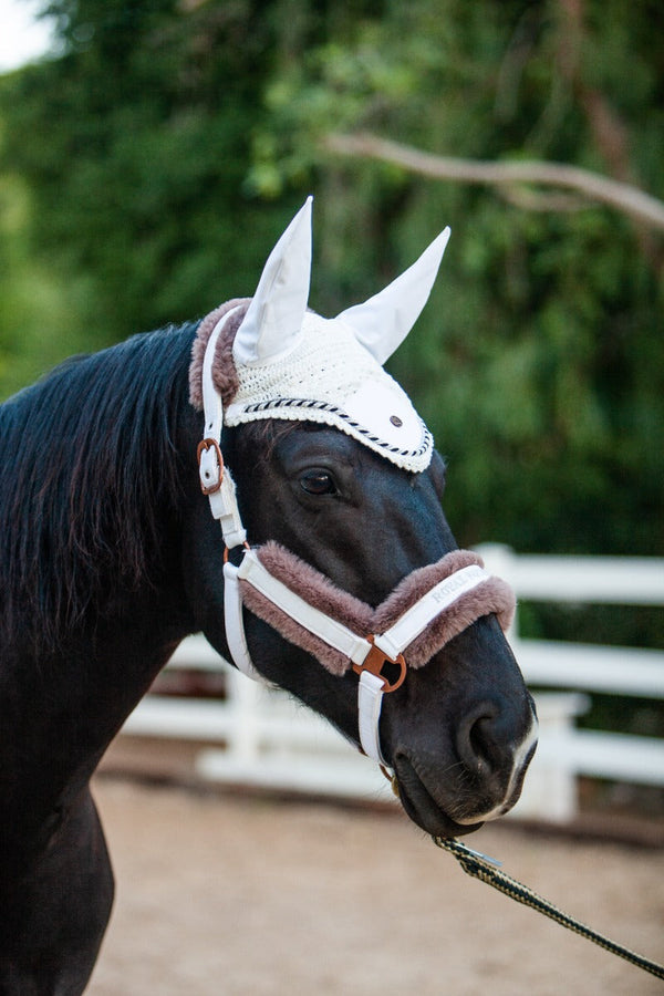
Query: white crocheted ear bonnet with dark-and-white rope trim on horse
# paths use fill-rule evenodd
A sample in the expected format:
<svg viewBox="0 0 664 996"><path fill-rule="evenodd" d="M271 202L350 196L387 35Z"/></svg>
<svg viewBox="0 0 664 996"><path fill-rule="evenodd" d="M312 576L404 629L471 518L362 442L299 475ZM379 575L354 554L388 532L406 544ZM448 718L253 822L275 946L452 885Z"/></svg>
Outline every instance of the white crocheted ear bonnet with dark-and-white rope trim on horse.
<svg viewBox="0 0 664 996"><path fill-rule="evenodd" d="M323 423L405 470L424 470L432 434L382 364L424 308L448 238L445 229L378 294L324 319L308 310L309 198L274 246L253 298L228 301L201 322L190 367L193 405L203 408L203 357L224 322L212 376L226 425L262 418Z"/></svg>

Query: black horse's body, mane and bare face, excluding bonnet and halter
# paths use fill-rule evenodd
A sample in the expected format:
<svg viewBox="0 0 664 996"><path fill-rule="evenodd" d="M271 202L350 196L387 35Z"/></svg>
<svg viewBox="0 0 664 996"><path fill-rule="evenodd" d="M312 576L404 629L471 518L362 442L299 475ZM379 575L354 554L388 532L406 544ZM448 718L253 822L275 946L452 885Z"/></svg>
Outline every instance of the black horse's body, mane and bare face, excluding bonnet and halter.
<svg viewBox="0 0 664 996"><path fill-rule="evenodd" d="M225 656L224 543L196 464L197 325L76 357L0 407L0 992L79 994L113 898L90 778L177 644ZM442 459L421 473L309 421L225 428L251 541L277 540L370 605L455 541ZM251 612L257 667L357 743L356 688ZM407 813L467 832L513 803L530 697L494 616L386 696Z"/></svg>

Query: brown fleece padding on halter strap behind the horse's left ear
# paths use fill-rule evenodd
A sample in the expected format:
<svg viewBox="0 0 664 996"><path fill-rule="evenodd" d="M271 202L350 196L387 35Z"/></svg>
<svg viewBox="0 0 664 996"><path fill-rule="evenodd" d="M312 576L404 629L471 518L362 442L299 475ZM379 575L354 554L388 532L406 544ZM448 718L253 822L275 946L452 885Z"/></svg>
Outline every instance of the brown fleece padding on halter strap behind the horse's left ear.
<svg viewBox="0 0 664 996"><path fill-rule="evenodd" d="M250 301L251 298L234 298L231 301L220 304L215 311L210 311L198 326L196 339L191 346L191 363L189 365L189 401L197 412L203 412L203 360L209 338L219 319L222 319L225 314L228 314L229 311L241 304L243 307L227 321L221 330L212 362L212 380L221 395L224 407L231 403L237 393L239 382L232 359L232 343Z"/></svg>

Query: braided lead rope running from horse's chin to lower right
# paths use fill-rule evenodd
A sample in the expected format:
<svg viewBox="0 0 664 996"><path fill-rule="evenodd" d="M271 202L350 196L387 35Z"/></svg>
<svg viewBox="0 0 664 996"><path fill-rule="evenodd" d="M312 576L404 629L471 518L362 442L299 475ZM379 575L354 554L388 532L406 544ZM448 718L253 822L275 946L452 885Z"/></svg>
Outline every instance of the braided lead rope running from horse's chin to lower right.
<svg viewBox="0 0 664 996"><path fill-rule="evenodd" d="M642 955L630 951L627 947L623 947L622 944L610 941L591 927L585 926L585 924L574 920L573 916L569 916L567 913L558 910L553 903L542 899L542 896L538 895L527 885L522 885L520 882L517 882L516 879L511 879L508 874L500 871L496 864L492 863L490 858L487 858L485 854L479 854L477 851L473 851L470 848L466 847L466 844L454 838L446 840L442 837L434 837L432 839L436 847L443 848L443 850L454 854L464 871L474 879L479 879L480 882L492 885L498 892L509 895L510 899L513 899L516 902L522 903L525 906L530 906L531 910L537 910L539 913L542 913L561 926L567 927L569 931L573 931L581 937L592 941L593 944L599 944L604 951L609 951L611 954L624 958L632 965L636 965L637 968L642 968L644 972L650 972L651 975L664 979L664 965L651 962L649 958L644 958Z"/></svg>

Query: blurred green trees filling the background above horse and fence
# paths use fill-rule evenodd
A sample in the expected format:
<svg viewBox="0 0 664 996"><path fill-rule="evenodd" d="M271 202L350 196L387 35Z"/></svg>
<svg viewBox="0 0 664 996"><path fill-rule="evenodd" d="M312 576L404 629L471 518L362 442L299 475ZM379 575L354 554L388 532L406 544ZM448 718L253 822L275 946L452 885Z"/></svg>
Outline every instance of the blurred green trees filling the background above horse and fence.
<svg viewBox="0 0 664 996"><path fill-rule="evenodd" d="M378 290L447 224L391 362L449 463L463 544L664 554L664 234L532 184L331 149L584 167L664 198L652 0L53 0L0 77L0 395L251 293L315 195L311 302ZM646 627L647 629L647 627Z"/></svg>

